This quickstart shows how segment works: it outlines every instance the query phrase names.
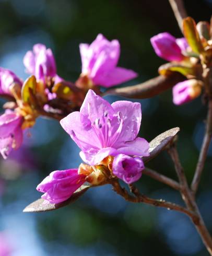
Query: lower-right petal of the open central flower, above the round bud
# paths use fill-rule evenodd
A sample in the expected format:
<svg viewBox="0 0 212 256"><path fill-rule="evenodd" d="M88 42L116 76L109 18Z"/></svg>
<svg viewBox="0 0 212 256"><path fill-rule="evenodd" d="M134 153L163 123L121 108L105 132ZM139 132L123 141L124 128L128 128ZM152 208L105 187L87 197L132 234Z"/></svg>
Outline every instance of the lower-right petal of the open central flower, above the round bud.
<svg viewBox="0 0 212 256"><path fill-rule="evenodd" d="M117 152L130 156L149 156L149 143L144 138L136 138L134 141L126 142L117 149Z"/></svg>

